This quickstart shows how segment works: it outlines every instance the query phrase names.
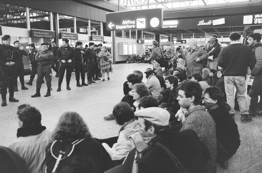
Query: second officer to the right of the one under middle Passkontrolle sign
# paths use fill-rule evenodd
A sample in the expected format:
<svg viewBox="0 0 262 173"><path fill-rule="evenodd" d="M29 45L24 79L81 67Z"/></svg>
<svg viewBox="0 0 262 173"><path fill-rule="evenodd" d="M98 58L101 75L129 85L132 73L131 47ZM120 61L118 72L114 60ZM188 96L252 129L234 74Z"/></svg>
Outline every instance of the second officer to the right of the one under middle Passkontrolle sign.
<svg viewBox="0 0 262 173"><path fill-rule="evenodd" d="M84 60L85 64L87 66L87 84L91 85L92 83L95 83L95 81L92 81L92 73L93 73L93 63L94 60L96 60L96 53L94 50L95 43L90 42L89 48L86 49L86 52L84 53Z"/></svg>

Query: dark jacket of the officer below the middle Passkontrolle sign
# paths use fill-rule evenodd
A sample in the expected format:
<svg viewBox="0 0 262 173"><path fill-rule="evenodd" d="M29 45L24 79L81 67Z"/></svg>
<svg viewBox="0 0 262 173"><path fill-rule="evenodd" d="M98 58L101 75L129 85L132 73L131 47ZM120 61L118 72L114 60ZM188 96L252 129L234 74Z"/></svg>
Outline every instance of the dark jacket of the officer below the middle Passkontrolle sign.
<svg viewBox="0 0 262 173"><path fill-rule="evenodd" d="M74 60L76 57L75 51L73 48L71 48L70 46L65 47L65 46L61 46L56 53L56 58L59 61L62 60Z"/></svg>

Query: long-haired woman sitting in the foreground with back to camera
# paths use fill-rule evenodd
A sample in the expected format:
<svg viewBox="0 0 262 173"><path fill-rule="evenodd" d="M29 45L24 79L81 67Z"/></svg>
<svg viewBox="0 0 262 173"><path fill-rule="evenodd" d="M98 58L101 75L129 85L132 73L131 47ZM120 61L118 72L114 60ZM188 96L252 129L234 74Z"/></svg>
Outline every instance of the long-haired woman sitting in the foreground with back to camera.
<svg viewBox="0 0 262 173"><path fill-rule="evenodd" d="M107 151L101 143L93 139L83 118L76 112L65 112L59 118L46 149L46 160L53 157L51 146L56 140L62 141L64 145L71 145L72 143L76 143L76 141L79 142L75 145L70 157L60 160L59 166L56 169L58 172L68 164L73 164L68 162L68 160L74 157L83 159L83 161L81 161L82 164L75 163L82 167L81 172L104 172L113 167L112 160ZM88 167L88 165L93 165L92 170L89 170L91 168ZM53 168L51 168L51 170L52 169Z"/></svg>

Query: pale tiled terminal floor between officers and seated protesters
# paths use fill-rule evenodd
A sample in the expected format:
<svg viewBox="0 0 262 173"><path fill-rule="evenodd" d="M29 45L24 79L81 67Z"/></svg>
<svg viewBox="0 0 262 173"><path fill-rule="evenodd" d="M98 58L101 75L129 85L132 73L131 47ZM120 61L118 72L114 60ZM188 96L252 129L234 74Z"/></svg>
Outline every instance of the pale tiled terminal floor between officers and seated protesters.
<svg viewBox="0 0 262 173"><path fill-rule="evenodd" d="M9 103L8 106L0 107L0 145L8 146L17 133L17 122L14 119L17 107L20 104L28 103L37 107L42 114L42 125L52 131L59 116L65 111L76 111L85 119L91 134L97 138L107 138L118 135L119 125L115 121L105 121L103 116L112 112L113 106L121 101L123 94L123 83L126 76L134 70L152 68L150 64L116 64L113 66L113 73L110 73L110 81L97 81L95 84L83 87L76 87L75 74L72 73L71 90L66 90L65 78L62 83L62 91L56 92L58 78L52 78L51 96L45 98L47 86L42 85L41 97L31 98L36 90L36 78L29 90L21 90L18 82L18 92L14 97L19 99L18 103ZM25 76L29 81L29 76ZM146 82L145 77L143 82ZM7 95L8 96L8 95ZM249 97L247 102L249 104ZM229 168L222 169L217 166L217 172L262 172L262 118L254 117L252 122L241 123L240 115L236 113L241 145L237 153L229 160Z"/></svg>

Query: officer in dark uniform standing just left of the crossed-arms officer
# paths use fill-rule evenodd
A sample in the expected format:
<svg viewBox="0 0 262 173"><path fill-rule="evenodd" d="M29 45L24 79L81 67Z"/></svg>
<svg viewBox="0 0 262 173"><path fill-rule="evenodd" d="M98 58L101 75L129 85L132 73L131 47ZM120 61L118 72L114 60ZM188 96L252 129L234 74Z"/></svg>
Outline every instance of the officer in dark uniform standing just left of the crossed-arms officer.
<svg viewBox="0 0 262 173"><path fill-rule="evenodd" d="M35 60L35 55L37 53L37 50L35 48L35 44L30 44L29 49L31 50L31 52L29 53L31 75L30 75L29 82L27 82L26 84L27 85L33 85L35 74L37 74L37 61Z"/></svg>

